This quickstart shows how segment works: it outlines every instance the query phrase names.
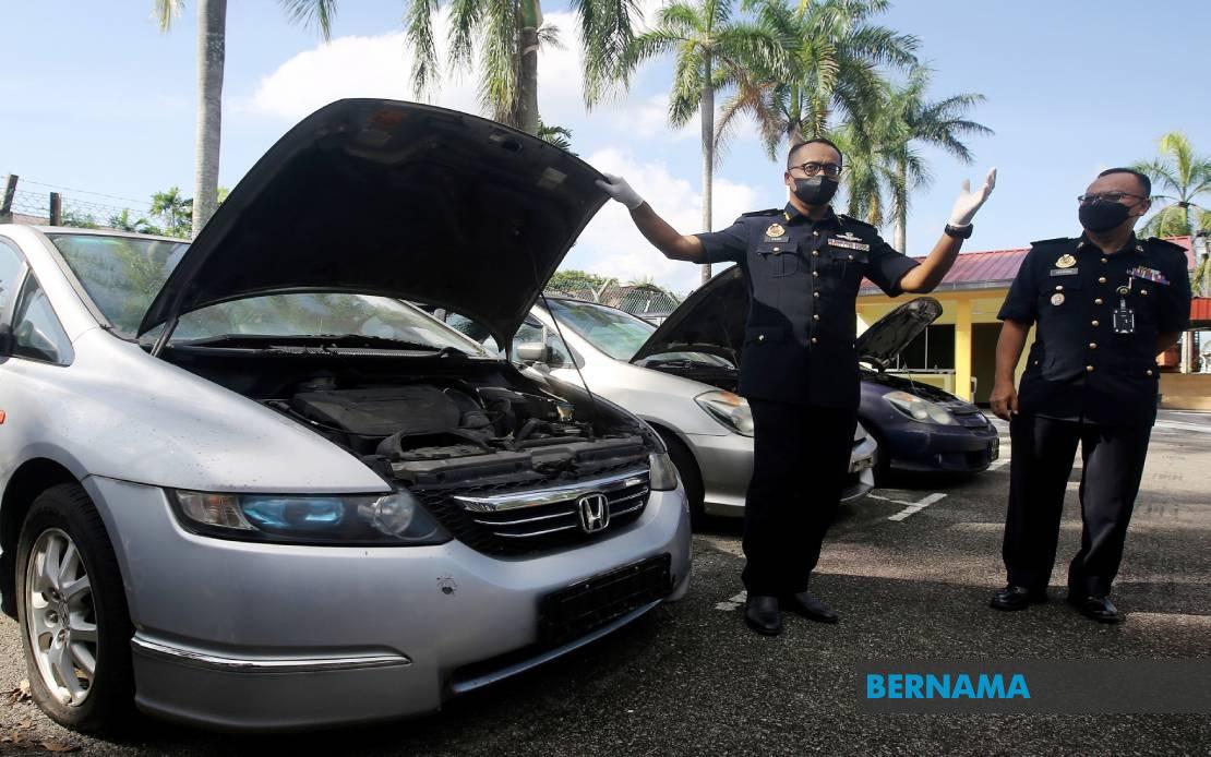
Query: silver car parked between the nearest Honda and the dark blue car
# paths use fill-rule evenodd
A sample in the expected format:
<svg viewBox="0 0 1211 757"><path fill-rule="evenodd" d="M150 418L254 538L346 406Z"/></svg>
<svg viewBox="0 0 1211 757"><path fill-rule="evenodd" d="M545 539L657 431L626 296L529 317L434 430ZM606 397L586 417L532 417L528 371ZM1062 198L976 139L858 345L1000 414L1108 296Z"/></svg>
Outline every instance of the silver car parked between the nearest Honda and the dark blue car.
<svg viewBox="0 0 1211 757"><path fill-rule="evenodd" d="M710 319L702 311L711 306L691 297L658 329L616 308L545 297L513 337L510 352L541 374L573 385L584 380L595 395L647 420L668 448L693 514L740 516L752 477L753 421L748 402L734 394L739 355L676 342L677 329ZM458 316L447 321L495 349L482 326ZM844 500L873 488L874 457L874 438L857 424Z"/></svg>

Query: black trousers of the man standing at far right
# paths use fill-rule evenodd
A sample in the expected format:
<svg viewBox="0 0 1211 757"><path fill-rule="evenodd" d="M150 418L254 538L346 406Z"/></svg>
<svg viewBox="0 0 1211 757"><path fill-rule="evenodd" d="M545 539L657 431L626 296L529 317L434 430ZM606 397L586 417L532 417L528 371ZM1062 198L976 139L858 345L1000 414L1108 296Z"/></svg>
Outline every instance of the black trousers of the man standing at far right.
<svg viewBox="0 0 1211 757"><path fill-rule="evenodd" d="M1080 596L1110 592L1150 435L1148 424L1092 425L1014 417L1001 547L1010 584L1045 589L1051 580L1064 489L1080 442L1080 551L1068 566L1068 589Z"/></svg>

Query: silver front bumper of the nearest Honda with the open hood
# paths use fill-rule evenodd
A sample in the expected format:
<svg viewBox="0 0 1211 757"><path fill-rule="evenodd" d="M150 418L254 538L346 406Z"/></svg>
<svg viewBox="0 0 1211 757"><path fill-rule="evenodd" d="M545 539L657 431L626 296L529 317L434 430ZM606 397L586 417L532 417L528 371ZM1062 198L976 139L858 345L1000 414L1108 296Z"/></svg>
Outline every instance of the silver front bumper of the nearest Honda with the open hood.
<svg viewBox="0 0 1211 757"><path fill-rule="evenodd" d="M437 710L458 693L567 653L638 618L636 608L539 648L539 601L670 555L689 589L684 492L590 545L500 560L450 541L420 547L264 545L180 528L161 489L91 477L136 627L136 704L206 727L279 730Z"/></svg>

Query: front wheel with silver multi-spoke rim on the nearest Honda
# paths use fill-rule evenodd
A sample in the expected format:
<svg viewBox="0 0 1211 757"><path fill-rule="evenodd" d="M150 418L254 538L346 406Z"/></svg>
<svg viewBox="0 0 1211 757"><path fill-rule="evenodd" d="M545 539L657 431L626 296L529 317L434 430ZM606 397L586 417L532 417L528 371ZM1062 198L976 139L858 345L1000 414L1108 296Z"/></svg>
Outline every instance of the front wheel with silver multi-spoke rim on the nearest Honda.
<svg viewBox="0 0 1211 757"><path fill-rule="evenodd" d="M21 529L16 584L34 701L74 730L125 730L134 716L133 627L114 547L79 484L51 487L34 500Z"/></svg>

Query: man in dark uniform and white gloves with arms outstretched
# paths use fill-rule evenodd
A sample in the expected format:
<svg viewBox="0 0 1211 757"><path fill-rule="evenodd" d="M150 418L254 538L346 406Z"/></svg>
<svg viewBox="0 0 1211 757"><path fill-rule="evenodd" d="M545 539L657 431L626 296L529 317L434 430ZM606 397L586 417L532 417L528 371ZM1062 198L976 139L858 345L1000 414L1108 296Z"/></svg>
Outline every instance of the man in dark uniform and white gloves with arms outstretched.
<svg viewBox="0 0 1211 757"><path fill-rule="evenodd" d="M790 190L784 210L746 213L723 231L698 235L665 223L624 179L598 182L666 257L733 260L744 269L751 306L739 391L754 424L745 504L745 618L765 635L781 631L780 608L837 621L808 592L808 580L849 470L859 400L855 299L862 277L889 296L931 291L970 236L971 218L995 180L991 171L978 191L964 184L946 233L918 264L874 226L833 213L830 201L840 172L840 150L831 142L796 145L784 174Z"/></svg>

